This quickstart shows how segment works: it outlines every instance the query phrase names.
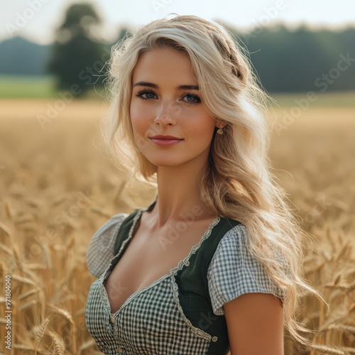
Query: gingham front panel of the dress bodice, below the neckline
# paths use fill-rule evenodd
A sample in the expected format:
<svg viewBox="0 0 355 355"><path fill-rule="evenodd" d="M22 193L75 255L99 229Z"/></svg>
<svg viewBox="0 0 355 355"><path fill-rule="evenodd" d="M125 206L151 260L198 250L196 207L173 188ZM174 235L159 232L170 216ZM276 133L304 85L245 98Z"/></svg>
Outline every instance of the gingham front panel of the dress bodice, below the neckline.
<svg viewBox="0 0 355 355"><path fill-rule="evenodd" d="M187 320L170 275L134 294L114 315L99 278L90 288L85 317L105 354L200 355L218 339Z"/></svg>

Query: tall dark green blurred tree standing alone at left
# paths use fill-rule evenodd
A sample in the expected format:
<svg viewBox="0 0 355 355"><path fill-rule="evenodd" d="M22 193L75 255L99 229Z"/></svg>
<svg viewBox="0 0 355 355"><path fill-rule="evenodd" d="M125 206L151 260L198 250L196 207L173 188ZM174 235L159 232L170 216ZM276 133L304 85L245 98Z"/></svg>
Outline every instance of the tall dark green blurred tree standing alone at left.
<svg viewBox="0 0 355 355"><path fill-rule="evenodd" d="M94 84L102 84L100 71L109 59L109 50L105 53L96 35L100 23L91 4L74 4L67 9L47 63L48 72L58 79L58 89L82 96Z"/></svg>

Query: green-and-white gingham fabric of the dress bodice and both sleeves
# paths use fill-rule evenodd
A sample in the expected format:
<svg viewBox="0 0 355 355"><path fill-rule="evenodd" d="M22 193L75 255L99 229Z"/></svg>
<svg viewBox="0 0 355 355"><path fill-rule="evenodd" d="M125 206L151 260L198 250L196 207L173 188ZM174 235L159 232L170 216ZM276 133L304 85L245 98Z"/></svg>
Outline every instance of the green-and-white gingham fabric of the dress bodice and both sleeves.
<svg viewBox="0 0 355 355"><path fill-rule="evenodd" d="M146 209L142 209L143 212ZM202 355L208 354L209 344L217 337L194 327L185 317L179 302L175 274L189 267L189 259L202 242L212 233L219 218L210 224L199 244L196 244L179 265L168 275L133 293L121 308L111 315L104 280L111 271L116 257L131 238L140 213L133 219L130 235L119 253L113 256L114 240L124 221L125 214L116 214L92 237L87 251L89 271L99 277L92 283L85 321L87 329L104 354L157 354ZM274 293L274 288L261 265L246 250L246 229L243 225L230 229L219 242L206 275L212 308L216 315L224 314L223 305L243 293Z"/></svg>

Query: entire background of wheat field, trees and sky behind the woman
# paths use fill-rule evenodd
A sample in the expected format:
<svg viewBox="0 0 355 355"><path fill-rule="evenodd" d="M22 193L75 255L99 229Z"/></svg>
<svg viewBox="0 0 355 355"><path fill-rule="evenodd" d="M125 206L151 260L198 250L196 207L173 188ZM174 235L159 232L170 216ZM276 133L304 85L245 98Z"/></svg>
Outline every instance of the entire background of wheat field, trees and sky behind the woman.
<svg viewBox="0 0 355 355"><path fill-rule="evenodd" d="M113 214L145 207L153 187L127 185L99 121L111 46L156 18L217 21L249 53L272 97L270 158L307 231L305 348L355 353L355 3L18 0L0 11L0 352L100 354L84 324L94 278L85 251ZM11 275L11 349L4 337ZM21 335L20 335L21 334Z"/></svg>

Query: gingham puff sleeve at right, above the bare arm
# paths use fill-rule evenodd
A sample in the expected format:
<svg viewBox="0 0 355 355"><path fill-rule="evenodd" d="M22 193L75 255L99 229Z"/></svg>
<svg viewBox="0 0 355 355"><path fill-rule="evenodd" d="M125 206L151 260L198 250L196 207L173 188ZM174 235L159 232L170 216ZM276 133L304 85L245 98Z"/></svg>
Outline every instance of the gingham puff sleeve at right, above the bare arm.
<svg viewBox="0 0 355 355"><path fill-rule="evenodd" d="M272 293L282 297L261 263L249 253L246 241L246 226L234 226L219 241L209 264L207 280L215 315L224 315L222 306L244 293Z"/></svg>

